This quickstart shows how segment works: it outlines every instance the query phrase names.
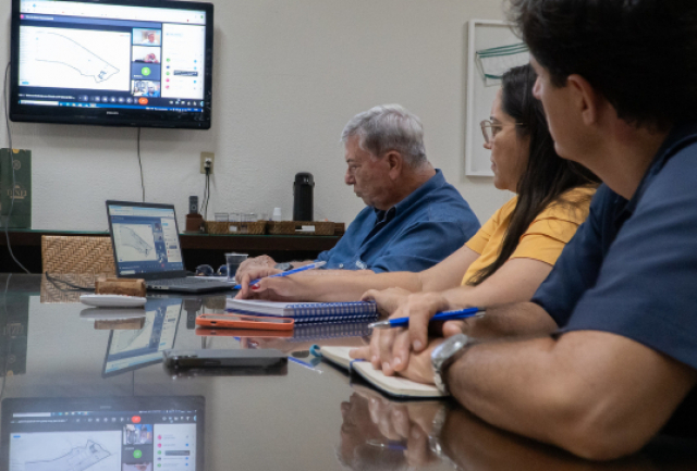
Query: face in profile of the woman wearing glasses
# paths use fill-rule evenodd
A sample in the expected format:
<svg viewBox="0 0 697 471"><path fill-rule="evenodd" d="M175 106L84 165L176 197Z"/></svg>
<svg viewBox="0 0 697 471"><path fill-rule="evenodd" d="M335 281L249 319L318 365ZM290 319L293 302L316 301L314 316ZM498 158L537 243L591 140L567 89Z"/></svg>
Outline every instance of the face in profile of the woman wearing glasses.
<svg viewBox="0 0 697 471"><path fill-rule="evenodd" d="M501 108L502 89L499 88L491 106L492 139L484 147L491 150L493 186L516 191L528 159L529 138L518 136L515 120Z"/></svg>

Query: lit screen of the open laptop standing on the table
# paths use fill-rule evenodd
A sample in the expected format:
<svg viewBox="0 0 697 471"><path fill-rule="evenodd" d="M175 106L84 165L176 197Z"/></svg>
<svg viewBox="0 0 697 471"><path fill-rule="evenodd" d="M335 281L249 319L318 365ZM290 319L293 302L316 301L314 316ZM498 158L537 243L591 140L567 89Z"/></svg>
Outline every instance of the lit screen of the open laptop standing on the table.
<svg viewBox="0 0 697 471"><path fill-rule="evenodd" d="M184 270L174 207L108 204L119 276Z"/></svg>

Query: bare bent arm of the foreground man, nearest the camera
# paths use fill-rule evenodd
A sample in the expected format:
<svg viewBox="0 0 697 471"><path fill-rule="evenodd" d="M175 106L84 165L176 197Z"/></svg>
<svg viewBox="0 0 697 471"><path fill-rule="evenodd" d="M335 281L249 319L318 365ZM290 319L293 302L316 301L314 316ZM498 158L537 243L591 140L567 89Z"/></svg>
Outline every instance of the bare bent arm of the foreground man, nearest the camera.
<svg viewBox="0 0 697 471"><path fill-rule="evenodd" d="M694 369L598 331L475 345L447 372L487 422L589 459L638 450L696 382Z"/></svg>

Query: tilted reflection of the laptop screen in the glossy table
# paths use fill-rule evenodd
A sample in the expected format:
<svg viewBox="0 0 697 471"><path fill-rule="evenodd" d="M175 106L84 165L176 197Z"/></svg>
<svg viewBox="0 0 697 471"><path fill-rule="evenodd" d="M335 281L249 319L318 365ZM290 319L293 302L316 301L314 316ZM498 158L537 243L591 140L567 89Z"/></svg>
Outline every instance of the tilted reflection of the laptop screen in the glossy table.
<svg viewBox="0 0 697 471"><path fill-rule="evenodd" d="M182 300L148 299L145 323L138 331L111 331L101 377L162 362L162 350L174 348Z"/></svg>

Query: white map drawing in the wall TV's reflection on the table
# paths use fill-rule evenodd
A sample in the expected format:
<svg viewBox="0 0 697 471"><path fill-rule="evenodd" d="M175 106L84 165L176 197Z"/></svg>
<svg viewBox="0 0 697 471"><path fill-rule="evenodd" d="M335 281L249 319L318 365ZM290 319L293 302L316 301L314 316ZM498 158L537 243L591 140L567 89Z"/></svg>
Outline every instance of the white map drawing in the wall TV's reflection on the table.
<svg viewBox="0 0 697 471"><path fill-rule="evenodd" d="M12 437L10 469L24 471L102 471L121 461L121 433L24 433Z"/></svg>

